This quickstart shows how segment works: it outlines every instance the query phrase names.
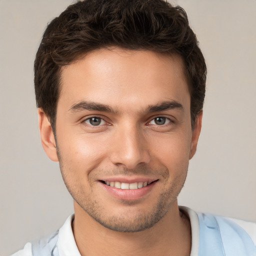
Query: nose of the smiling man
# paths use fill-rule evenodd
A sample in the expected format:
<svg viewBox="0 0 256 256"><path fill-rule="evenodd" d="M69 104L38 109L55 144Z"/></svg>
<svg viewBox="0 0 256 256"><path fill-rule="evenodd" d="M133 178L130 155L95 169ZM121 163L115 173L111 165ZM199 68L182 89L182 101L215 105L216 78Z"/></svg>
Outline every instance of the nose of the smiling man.
<svg viewBox="0 0 256 256"><path fill-rule="evenodd" d="M138 164L150 161L145 136L135 126L119 128L112 140L110 160L113 164L135 168Z"/></svg>

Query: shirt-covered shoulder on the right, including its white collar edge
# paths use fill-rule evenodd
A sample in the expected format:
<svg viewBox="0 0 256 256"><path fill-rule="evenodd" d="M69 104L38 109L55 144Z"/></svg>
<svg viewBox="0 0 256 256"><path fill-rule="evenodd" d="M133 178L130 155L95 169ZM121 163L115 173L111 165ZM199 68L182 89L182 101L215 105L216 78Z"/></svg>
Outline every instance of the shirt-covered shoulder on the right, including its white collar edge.
<svg viewBox="0 0 256 256"><path fill-rule="evenodd" d="M179 206L190 219L191 254L196 256L256 256L256 223L198 213Z"/></svg>

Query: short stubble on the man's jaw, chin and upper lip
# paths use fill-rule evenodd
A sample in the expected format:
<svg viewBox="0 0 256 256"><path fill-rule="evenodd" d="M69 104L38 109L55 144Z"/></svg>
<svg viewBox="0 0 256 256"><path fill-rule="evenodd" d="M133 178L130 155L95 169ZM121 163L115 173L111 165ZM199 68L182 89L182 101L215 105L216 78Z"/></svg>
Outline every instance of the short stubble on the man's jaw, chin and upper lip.
<svg viewBox="0 0 256 256"><path fill-rule="evenodd" d="M120 208L124 209L122 213L106 215L107 211L104 208L104 203L100 203L99 200L95 199L97 194L93 191L93 185L90 183L91 178L89 177L89 175L87 179L89 184L87 185L87 189L89 188L90 190L86 193L85 185L76 175L75 169L71 167L65 168L57 146L56 151L63 181L73 199L84 210L84 212L92 217L95 221L100 223L102 226L114 231L138 232L150 228L154 224L156 224L160 219L164 217L173 202L176 200L181 188L183 187L187 173L186 166L186 169L180 171L179 175L171 180L170 184L166 187L165 185L168 183L169 178L169 170L166 167L156 170L150 168L149 166L143 165L132 171L127 171L125 170L125 168L119 168L112 170L110 173L109 171L104 171L102 169L92 169L89 172L91 173L91 176L93 176L94 173L108 173L112 175L127 175L127 173L145 175L149 173L157 173L159 176L162 177L162 179L157 182L162 182L162 187L166 187L164 191L159 193L157 202L152 206L151 210L149 211L137 212L134 215L134 208L136 209L137 207L139 207L140 199L134 201L120 200ZM72 166L72 164L69 164L69 166ZM105 204L106 203L107 202L105 202Z"/></svg>

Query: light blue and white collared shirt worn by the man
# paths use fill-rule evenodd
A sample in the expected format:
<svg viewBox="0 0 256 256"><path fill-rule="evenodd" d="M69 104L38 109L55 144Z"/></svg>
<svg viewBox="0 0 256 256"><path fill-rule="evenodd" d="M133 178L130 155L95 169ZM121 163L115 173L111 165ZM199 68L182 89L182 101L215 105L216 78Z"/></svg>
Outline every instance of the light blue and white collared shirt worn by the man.
<svg viewBox="0 0 256 256"><path fill-rule="evenodd" d="M256 256L256 223L179 208L190 219L190 256ZM12 256L80 256L72 233L73 217L50 236L26 243Z"/></svg>

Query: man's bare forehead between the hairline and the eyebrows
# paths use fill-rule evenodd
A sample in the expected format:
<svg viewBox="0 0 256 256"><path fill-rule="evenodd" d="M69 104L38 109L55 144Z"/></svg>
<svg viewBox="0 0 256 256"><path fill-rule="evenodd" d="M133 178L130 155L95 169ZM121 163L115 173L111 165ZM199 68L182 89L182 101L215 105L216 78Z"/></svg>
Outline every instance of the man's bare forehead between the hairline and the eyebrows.
<svg viewBox="0 0 256 256"><path fill-rule="evenodd" d="M62 67L58 104L70 107L86 100L131 108L187 98L190 100L180 56L103 48Z"/></svg>

